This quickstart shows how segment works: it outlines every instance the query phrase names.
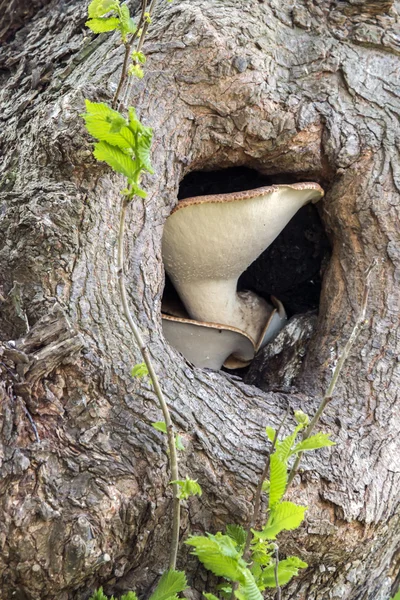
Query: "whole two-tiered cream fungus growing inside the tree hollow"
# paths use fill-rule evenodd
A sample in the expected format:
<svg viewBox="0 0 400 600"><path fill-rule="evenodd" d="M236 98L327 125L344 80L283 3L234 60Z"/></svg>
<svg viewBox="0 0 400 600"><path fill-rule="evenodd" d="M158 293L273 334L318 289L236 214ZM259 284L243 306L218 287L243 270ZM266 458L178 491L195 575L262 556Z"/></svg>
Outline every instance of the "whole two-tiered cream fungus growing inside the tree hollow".
<svg viewBox="0 0 400 600"><path fill-rule="evenodd" d="M286 315L276 299L274 308L253 292L237 292L238 279L295 213L323 194L317 183L296 183L179 202L166 220L162 241L165 269L187 313L163 319L171 345L196 366L246 366L283 327ZM245 350L237 346L238 335ZM211 350L202 350L208 338L214 358Z"/></svg>

